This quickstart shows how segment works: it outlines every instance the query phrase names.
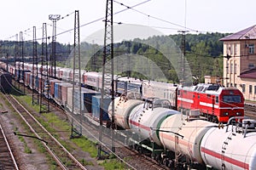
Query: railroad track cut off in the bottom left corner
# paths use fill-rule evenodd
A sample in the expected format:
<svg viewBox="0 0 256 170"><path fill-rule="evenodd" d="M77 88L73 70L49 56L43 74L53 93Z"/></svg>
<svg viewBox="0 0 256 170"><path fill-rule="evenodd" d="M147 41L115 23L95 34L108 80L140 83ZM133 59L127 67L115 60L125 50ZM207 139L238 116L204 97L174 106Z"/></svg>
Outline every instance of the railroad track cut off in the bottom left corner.
<svg viewBox="0 0 256 170"><path fill-rule="evenodd" d="M19 167L17 166L8 139L6 138L1 125L0 128L0 169L18 170Z"/></svg>

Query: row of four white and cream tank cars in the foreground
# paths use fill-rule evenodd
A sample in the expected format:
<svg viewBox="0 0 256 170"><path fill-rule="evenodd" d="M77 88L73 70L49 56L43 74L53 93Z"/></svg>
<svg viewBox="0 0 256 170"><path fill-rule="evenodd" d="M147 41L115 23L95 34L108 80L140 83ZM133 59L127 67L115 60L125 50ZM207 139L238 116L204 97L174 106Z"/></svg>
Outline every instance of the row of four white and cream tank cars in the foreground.
<svg viewBox="0 0 256 170"><path fill-rule="evenodd" d="M137 96L131 93L115 99L114 122L138 135L139 150L143 144L152 146L156 160L177 169L255 169L255 120L234 116L220 127L195 114L168 109L171 104L166 99L142 102ZM108 113L112 117L112 105Z"/></svg>

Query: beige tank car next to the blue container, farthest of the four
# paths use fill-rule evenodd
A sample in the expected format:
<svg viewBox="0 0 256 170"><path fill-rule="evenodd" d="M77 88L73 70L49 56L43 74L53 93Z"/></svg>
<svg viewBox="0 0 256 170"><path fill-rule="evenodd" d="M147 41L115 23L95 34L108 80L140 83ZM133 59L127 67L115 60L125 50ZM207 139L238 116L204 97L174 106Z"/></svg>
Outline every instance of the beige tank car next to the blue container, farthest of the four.
<svg viewBox="0 0 256 170"><path fill-rule="evenodd" d="M129 115L135 106L143 103L141 98L141 94L129 93L114 99L114 122L119 127L130 128L128 122ZM108 116L110 119L112 118L112 103L108 106Z"/></svg>

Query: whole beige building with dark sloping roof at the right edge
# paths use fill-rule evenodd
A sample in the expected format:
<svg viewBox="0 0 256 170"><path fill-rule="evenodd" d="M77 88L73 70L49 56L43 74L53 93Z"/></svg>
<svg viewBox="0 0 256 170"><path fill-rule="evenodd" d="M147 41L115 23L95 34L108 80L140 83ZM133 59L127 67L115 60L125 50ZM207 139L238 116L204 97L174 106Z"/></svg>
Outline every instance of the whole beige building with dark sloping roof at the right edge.
<svg viewBox="0 0 256 170"><path fill-rule="evenodd" d="M224 86L236 87L248 100L256 100L256 25L223 37Z"/></svg>

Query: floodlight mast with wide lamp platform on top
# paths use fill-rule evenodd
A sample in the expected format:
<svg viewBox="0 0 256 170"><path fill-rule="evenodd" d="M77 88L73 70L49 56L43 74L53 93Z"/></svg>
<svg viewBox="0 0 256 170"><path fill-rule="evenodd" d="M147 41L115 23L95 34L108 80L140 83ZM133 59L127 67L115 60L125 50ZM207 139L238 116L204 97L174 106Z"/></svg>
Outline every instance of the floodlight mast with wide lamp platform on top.
<svg viewBox="0 0 256 170"><path fill-rule="evenodd" d="M61 19L61 14L49 14L49 20L52 20L52 48L50 55L50 76L56 77L56 22ZM54 67L54 68L53 68ZM55 72L53 72L55 71ZM54 74L54 75L53 75Z"/></svg>

